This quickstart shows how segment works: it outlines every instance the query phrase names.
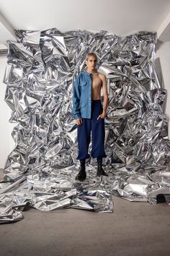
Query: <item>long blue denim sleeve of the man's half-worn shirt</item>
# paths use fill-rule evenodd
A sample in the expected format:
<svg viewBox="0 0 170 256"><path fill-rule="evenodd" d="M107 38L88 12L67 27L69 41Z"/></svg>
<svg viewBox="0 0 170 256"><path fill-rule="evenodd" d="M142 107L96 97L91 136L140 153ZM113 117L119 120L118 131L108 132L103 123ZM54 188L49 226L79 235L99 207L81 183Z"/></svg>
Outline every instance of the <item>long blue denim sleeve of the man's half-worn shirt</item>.
<svg viewBox="0 0 170 256"><path fill-rule="evenodd" d="M76 77L75 82L73 83L73 108L72 108L72 115L75 119L81 118L80 112L80 86L79 86L79 74Z"/></svg>

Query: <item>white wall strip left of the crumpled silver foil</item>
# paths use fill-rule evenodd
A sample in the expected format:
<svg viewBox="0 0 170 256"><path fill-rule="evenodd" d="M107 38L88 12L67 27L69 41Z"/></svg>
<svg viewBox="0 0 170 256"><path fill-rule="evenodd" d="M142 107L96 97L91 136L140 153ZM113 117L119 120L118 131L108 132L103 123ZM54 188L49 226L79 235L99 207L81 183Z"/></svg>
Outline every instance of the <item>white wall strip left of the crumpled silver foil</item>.
<svg viewBox="0 0 170 256"><path fill-rule="evenodd" d="M6 56L0 56L0 168L4 168L6 158L14 148L12 129L17 124L10 124L11 109L4 101L6 85L2 82L6 68Z"/></svg>

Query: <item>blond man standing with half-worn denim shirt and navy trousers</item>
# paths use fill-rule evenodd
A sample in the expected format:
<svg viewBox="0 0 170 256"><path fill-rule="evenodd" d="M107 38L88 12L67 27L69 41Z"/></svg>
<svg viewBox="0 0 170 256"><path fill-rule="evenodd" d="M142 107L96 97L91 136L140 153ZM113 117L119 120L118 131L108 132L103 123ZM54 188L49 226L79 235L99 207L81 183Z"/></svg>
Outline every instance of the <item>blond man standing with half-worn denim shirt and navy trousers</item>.
<svg viewBox="0 0 170 256"><path fill-rule="evenodd" d="M97 72L97 55L86 55L86 70L80 72L73 86L72 114L78 126L78 146L80 161L79 174L76 179L86 179L86 158L89 158L89 143L92 133L92 158L97 158L97 176L107 174L102 168L104 153L104 117L107 114L108 93L106 76ZM103 90L104 103L101 102L101 89Z"/></svg>

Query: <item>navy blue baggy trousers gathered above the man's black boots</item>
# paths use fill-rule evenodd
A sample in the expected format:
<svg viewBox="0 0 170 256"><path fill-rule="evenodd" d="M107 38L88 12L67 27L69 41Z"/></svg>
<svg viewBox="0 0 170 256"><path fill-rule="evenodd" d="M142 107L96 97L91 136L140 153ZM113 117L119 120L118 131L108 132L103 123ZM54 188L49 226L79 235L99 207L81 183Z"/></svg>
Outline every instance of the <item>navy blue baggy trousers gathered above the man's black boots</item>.
<svg viewBox="0 0 170 256"><path fill-rule="evenodd" d="M104 119L97 117L102 114L103 108L101 100L91 101L91 119L82 118L82 124L78 126L78 146L79 155L77 159L83 160L89 158L89 143L92 137L92 158L105 158L104 152Z"/></svg>

